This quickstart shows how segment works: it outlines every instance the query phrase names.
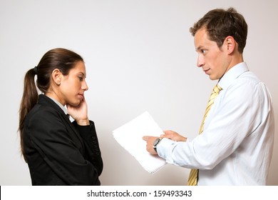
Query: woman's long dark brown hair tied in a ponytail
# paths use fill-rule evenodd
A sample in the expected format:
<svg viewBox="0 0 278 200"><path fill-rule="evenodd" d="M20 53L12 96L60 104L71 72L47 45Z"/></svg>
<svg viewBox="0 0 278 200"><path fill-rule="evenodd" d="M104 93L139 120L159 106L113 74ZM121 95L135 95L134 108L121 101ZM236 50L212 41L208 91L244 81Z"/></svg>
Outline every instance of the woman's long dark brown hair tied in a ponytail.
<svg viewBox="0 0 278 200"><path fill-rule="evenodd" d="M24 135L24 119L38 101L37 88L46 93L51 83L51 74L54 69L59 69L63 75L74 68L76 62L83 61L82 57L68 49L52 49L43 55L38 66L29 69L24 78L24 92L21 99L19 109L19 133L21 137L21 154L26 161L23 135ZM35 75L37 75L35 84Z"/></svg>

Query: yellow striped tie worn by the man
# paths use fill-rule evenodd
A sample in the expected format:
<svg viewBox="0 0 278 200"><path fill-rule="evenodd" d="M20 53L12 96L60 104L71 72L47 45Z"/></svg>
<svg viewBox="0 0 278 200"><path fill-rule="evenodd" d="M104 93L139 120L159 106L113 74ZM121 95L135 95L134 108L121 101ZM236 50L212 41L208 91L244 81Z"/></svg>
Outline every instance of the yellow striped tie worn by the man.
<svg viewBox="0 0 278 200"><path fill-rule="evenodd" d="M210 94L210 100L207 102L207 108L205 109L205 115L202 118L202 124L200 127L199 134L202 134L202 131L204 130L205 118L207 117L207 114L210 111L210 107L215 102L215 98L219 94L220 90L222 90L222 88L220 86L216 85L214 87L214 89L212 90L212 94ZM199 173L198 169L191 169L189 178L187 181L188 186L196 186L197 185L198 173Z"/></svg>

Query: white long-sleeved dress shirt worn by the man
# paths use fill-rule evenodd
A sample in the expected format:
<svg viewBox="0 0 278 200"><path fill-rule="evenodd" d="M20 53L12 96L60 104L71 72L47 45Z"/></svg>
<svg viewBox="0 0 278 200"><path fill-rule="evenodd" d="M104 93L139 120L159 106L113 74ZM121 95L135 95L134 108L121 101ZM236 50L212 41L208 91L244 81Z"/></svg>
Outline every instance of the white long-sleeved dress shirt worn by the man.
<svg viewBox="0 0 278 200"><path fill-rule="evenodd" d="M274 143L274 113L267 86L242 62L220 79L222 88L195 139L163 139L158 155L199 169L198 185L266 185ZM185 180L186 182L186 180Z"/></svg>

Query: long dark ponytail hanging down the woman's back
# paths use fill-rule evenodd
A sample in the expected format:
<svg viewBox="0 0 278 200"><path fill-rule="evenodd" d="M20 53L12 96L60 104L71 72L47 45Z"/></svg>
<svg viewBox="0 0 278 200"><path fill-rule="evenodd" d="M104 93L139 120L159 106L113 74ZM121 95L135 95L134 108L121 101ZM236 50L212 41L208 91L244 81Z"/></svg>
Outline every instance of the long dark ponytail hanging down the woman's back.
<svg viewBox="0 0 278 200"><path fill-rule="evenodd" d="M24 119L26 115L31 111L31 109L36 105L38 101L38 91L35 84L36 71L34 69L29 69L24 78L24 92L21 99L20 109L19 109L19 134L21 138L21 154L24 156L24 141L23 141L23 131L24 131Z"/></svg>

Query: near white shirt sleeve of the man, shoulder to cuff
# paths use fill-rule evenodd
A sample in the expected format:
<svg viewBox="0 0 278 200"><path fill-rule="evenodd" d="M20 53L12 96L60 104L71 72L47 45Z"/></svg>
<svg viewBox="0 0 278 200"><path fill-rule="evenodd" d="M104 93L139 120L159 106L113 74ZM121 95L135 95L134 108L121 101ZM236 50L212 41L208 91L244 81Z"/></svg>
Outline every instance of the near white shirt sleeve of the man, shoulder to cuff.
<svg viewBox="0 0 278 200"><path fill-rule="evenodd" d="M222 91L202 134L192 141L163 139L158 155L168 163L191 169L213 169L252 134L262 119L262 84L237 80Z"/></svg>

